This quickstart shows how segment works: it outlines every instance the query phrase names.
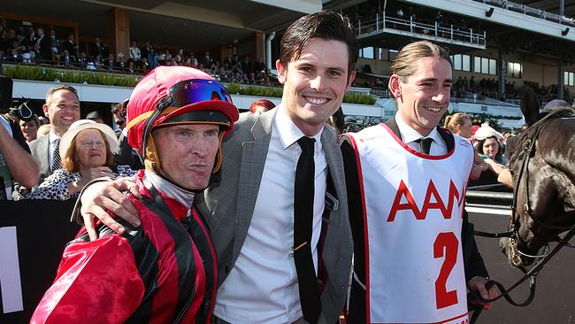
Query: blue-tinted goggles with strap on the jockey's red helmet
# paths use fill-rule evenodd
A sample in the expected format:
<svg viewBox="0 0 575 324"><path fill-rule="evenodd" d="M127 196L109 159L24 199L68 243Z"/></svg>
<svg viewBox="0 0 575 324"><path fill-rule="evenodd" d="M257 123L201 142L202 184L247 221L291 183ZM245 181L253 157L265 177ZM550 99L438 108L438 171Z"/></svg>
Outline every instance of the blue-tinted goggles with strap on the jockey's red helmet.
<svg viewBox="0 0 575 324"><path fill-rule="evenodd" d="M162 98L156 105L156 109L149 116L142 134L142 152L146 151L148 135L157 117L167 107L183 107L188 104L201 103L203 101L220 100L232 103L232 96L218 81L204 79L190 79L174 84L167 91L167 96Z"/></svg>

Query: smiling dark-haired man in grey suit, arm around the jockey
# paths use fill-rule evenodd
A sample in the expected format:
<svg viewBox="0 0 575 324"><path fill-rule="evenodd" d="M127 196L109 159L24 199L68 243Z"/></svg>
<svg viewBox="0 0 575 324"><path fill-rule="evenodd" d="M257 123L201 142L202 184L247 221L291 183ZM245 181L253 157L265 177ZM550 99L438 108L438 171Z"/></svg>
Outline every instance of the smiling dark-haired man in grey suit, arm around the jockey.
<svg viewBox="0 0 575 324"><path fill-rule="evenodd" d="M271 112L242 114L224 143L220 180L197 197L218 254L215 323L338 320L353 249L341 150L326 120L355 77L354 41L349 19L334 12L288 27L276 63L282 103ZM300 165L310 161L303 182L311 190L298 195ZM114 181L88 188L82 213L86 224L96 216L121 233L103 208L135 226L139 221L112 187L130 186Z"/></svg>

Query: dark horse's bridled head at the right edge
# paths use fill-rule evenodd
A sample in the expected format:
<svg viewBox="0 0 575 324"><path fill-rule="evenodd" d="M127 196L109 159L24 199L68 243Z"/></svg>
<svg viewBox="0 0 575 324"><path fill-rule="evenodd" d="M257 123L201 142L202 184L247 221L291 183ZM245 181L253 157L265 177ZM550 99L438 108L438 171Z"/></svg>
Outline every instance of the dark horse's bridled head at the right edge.
<svg viewBox="0 0 575 324"><path fill-rule="evenodd" d="M575 111L563 106L540 113L537 96L526 87L521 111L527 129L510 160L515 182L510 229L516 233L502 239L514 266L541 258L541 247L575 223Z"/></svg>

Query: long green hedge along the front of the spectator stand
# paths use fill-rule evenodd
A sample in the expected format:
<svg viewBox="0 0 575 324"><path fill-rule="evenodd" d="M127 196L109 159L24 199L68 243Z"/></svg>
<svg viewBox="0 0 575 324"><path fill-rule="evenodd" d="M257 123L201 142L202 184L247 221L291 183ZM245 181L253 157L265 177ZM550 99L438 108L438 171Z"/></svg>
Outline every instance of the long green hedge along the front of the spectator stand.
<svg viewBox="0 0 575 324"><path fill-rule="evenodd" d="M94 71L61 70L43 66L4 66L4 76L19 80L60 81L62 83L87 83L104 86L134 87L141 75L126 75ZM226 83L231 94L245 96L281 97L283 89L279 87L258 87ZM344 103L375 104L376 98L363 93L349 93L343 97Z"/></svg>

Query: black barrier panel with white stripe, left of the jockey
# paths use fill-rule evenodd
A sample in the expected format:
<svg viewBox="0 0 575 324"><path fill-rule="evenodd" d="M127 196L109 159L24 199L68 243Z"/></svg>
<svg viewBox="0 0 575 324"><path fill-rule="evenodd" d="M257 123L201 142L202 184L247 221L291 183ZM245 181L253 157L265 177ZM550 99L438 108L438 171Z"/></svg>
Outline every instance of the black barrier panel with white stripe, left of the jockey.
<svg viewBox="0 0 575 324"><path fill-rule="evenodd" d="M0 201L0 323L28 323L56 277L75 199Z"/></svg>

